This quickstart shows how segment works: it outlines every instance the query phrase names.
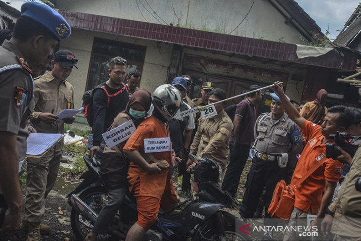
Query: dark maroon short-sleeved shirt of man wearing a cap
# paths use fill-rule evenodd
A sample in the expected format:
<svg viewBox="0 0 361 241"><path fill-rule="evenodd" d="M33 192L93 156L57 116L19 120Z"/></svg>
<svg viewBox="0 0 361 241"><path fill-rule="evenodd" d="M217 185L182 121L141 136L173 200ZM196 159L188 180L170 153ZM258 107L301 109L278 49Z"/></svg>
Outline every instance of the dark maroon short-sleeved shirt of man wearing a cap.
<svg viewBox="0 0 361 241"><path fill-rule="evenodd" d="M242 117L241 123L239 124L238 144L251 145L254 141L253 129L257 119L254 104L247 98L243 99L238 103L235 115ZM233 135L231 141L234 141Z"/></svg>

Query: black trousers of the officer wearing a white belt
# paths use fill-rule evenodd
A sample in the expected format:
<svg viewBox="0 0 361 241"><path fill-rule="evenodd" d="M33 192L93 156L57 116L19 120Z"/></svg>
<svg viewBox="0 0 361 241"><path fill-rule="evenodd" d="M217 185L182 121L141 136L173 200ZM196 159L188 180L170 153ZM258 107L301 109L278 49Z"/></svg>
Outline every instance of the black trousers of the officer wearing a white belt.
<svg viewBox="0 0 361 241"><path fill-rule="evenodd" d="M246 190L244 192L239 214L244 218L252 218L262 191L266 188L264 195L265 218L270 218L267 212L270 206L274 188L284 178L286 168L280 168L278 161L264 161L258 157L252 159L252 166L248 173Z"/></svg>

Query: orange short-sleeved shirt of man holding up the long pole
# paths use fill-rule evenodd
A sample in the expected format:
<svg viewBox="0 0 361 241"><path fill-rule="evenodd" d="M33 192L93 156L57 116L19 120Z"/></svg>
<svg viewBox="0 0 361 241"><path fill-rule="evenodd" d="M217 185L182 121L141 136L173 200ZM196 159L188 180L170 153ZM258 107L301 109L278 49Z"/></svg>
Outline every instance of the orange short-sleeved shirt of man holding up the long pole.
<svg viewBox="0 0 361 241"><path fill-rule="evenodd" d="M301 153L291 180L291 187L300 180L317 162L326 158L326 144L322 144L324 136L321 127L305 121L303 132L309 141ZM342 163L328 158L301 185L295 189L295 207L307 212L310 207L316 213L321 204L325 181L337 182L341 177Z"/></svg>

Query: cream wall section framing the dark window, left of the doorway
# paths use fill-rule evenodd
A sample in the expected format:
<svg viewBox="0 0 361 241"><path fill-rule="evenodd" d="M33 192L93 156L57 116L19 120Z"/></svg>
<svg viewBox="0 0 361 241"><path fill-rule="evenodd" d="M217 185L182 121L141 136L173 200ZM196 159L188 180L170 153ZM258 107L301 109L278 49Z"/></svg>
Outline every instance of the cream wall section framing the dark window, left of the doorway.
<svg viewBox="0 0 361 241"><path fill-rule="evenodd" d="M75 57L79 59L77 64L79 70L74 68L71 76L68 79L75 89L76 108L80 107L83 102L82 96L86 89L94 37L146 47L145 60L142 71L143 76L140 88L145 88L152 92L157 86L167 81L168 66L173 48L172 44L72 29L71 37L61 41L60 49L71 50Z"/></svg>

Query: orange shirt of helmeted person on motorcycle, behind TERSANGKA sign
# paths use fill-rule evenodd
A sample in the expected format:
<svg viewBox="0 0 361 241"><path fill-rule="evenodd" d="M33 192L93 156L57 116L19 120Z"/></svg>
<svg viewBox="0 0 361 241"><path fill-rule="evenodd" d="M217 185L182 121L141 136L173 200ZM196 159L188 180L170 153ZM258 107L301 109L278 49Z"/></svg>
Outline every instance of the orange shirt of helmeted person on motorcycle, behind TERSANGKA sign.
<svg viewBox="0 0 361 241"><path fill-rule="evenodd" d="M151 116L139 124L133 135L128 139L126 145L123 147L123 150L137 150L140 153L143 153L144 139L158 139L165 137L169 137L168 128L165 123L162 123L155 116ZM154 152L151 154L158 160L167 160L171 163L170 151ZM167 175L169 175L168 172L169 168L162 169L156 174L149 174L130 160L128 170L128 182L130 184L129 189L132 192L136 181L140 179L140 195L153 196L161 199L164 189L166 188Z"/></svg>

